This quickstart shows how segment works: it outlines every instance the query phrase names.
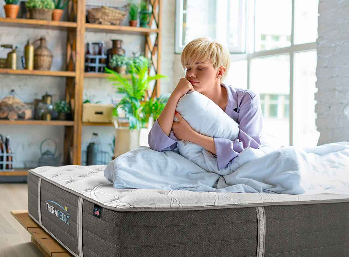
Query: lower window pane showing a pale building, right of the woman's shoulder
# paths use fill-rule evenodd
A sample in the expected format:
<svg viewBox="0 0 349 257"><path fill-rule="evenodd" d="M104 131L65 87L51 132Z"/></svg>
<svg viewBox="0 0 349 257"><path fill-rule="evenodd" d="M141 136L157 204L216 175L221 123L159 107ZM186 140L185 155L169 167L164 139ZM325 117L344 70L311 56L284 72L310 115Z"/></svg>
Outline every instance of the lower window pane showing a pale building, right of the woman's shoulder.
<svg viewBox="0 0 349 257"><path fill-rule="evenodd" d="M263 133L289 145L289 118L284 115L290 93L290 57L277 55L251 60L250 88L263 105Z"/></svg>

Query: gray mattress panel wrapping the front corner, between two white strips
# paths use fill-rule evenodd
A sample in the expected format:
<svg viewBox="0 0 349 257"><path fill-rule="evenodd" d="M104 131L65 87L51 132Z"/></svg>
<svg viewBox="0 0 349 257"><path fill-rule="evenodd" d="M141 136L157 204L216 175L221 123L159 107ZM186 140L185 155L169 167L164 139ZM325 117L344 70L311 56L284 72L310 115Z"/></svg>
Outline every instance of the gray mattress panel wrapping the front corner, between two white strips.
<svg viewBox="0 0 349 257"><path fill-rule="evenodd" d="M97 256L180 256L181 249L195 249L201 256L227 254L255 256L257 215L255 208L231 208L174 212L116 212L102 208L93 216L94 204L83 202L83 245ZM108 231L108 233L105 233ZM104 245L102 249L98 245ZM149 249L152 249L151 251ZM85 256L85 253L84 253Z"/></svg>

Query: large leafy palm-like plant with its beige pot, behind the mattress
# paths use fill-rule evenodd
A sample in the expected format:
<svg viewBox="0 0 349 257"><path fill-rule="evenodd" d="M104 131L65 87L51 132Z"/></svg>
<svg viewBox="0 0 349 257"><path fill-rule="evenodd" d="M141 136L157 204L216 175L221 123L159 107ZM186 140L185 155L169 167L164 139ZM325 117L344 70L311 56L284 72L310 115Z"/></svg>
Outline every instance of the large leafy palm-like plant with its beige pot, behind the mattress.
<svg viewBox="0 0 349 257"><path fill-rule="evenodd" d="M131 83L123 78L119 73L105 69L107 73L113 76L108 78L116 86L117 92L124 95L113 109L113 116L118 119L119 112L125 113L128 120L128 129L117 126L116 138L117 149L115 156L119 156L139 145L147 142L149 118L157 115L154 111L154 99L145 101L144 95L149 86L149 82L156 79L166 78L161 74L149 76L149 60L144 56L133 58L127 65L127 71L131 75ZM149 102L150 101L150 102ZM158 105L161 106L161 105ZM153 112L154 111L154 112ZM150 114L151 112L151 114Z"/></svg>

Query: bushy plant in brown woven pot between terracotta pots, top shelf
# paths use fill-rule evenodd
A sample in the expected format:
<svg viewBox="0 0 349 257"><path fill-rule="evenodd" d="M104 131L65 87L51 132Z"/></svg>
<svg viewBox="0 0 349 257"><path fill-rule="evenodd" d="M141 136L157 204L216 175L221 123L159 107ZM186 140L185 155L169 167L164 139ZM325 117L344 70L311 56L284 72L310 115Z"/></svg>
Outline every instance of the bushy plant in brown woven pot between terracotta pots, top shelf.
<svg viewBox="0 0 349 257"><path fill-rule="evenodd" d="M29 9L30 18L38 20L52 20L54 2L52 0L28 0L25 7Z"/></svg>

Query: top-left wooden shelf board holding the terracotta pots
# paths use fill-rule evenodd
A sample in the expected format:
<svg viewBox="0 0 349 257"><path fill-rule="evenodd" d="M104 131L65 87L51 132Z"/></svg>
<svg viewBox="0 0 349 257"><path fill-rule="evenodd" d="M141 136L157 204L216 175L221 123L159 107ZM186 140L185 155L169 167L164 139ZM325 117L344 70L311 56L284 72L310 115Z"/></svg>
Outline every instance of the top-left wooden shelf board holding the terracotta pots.
<svg viewBox="0 0 349 257"><path fill-rule="evenodd" d="M0 26L30 27L30 28L76 28L76 22L69 21L46 21L35 19L9 19L0 18Z"/></svg>

